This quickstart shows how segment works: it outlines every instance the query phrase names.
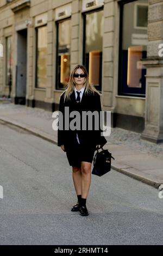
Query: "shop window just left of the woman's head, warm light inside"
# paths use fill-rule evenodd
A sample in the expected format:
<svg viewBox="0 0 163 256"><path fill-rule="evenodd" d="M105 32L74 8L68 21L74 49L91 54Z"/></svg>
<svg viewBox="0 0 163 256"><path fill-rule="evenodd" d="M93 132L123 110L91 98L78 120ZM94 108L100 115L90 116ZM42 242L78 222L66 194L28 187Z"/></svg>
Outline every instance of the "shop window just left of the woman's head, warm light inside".
<svg viewBox="0 0 163 256"><path fill-rule="evenodd" d="M57 89L65 89L70 78L71 20L57 22Z"/></svg>

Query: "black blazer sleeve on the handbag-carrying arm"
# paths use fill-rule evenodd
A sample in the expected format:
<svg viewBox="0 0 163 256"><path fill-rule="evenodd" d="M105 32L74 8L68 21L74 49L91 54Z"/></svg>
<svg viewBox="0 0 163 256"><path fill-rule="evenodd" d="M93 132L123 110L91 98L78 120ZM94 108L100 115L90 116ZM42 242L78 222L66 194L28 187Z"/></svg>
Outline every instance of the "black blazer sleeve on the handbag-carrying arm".
<svg viewBox="0 0 163 256"><path fill-rule="evenodd" d="M99 118L102 117L100 115L100 112L102 111L101 99L100 99L100 95L98 93L96 93L95 110L98 111ZM107 141L106 141L105 137L101 135L101 133L103 132L103 129L101 129L100 123L103 123L103 120L99 119L99 130L95 131L96 136L97 136L96 142L97 142L97 145L101 145L103 147L107 143Z"/></svg>

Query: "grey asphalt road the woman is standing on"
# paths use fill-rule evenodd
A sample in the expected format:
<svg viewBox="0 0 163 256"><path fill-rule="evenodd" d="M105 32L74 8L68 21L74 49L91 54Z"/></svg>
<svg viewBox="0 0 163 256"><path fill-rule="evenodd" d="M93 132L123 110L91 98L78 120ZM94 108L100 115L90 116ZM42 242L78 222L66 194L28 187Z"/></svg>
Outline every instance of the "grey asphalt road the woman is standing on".
<svg viewBox="0 0 163 256"><path fill-rule="evenodd" d="M158 190L111 170L92 175L82 217L72 171L57 145L0 124L1 245L162 245Z"/></svg>

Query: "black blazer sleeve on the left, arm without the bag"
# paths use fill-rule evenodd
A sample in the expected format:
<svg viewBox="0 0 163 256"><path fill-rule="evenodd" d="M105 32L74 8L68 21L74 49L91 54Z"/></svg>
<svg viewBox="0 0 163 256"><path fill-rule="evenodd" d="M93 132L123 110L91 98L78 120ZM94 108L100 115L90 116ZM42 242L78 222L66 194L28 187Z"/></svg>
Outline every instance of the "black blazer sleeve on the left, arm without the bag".
<svg viewBox="0 0 163 256"><path fill-rule="evenodd" d="M62 115L60 114L62 113ZM59 124L61 122L61 118L63 117L63 126L64 126L64 113L65 113L65 106L64 106L64 96L60 96L60 101L59 101L59 116L58 116L58 146L60 147L61 145L64 145L65 143L65 131L64 129L61 130L59 129ZM63 127L64 128L64 127Z"/></svg>

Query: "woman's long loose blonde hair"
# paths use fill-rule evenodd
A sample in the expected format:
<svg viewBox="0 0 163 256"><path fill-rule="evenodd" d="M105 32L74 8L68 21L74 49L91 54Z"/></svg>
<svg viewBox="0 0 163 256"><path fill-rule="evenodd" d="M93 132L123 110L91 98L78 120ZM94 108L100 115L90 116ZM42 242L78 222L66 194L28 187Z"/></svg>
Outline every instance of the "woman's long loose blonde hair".
<svg viewBox="0 0 163 256"><path fill-rule="evenodd" d="M67 87L66 87L66 90L62 93L64 94L64 102L66 100L71 100L70 99L70 95L73 93L73 90L74 90L74 87L75 87L75 82L74 82L74 79L73 79L73 75L74 73L76 72L77 69L82 69L84 74L86 74L86 77L85 77L85 82L84 82L84 86L85 86L85 94L89 94L89 93L95 93L98 91L96 90L95 87L91 86L90 83L89 83L89 75L87 73L87 70L85 68L84 65L79 65L77 64L76 66L74 66L72 72L71 72L71 75L70 75L70 78L69 78L69 81L68 81L68 84L67 84ZM62 95L61 94L61 95ZM99 94L99 93L98 93Z"/></svg>

